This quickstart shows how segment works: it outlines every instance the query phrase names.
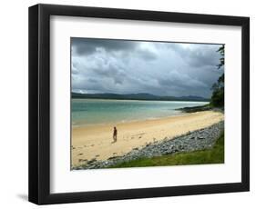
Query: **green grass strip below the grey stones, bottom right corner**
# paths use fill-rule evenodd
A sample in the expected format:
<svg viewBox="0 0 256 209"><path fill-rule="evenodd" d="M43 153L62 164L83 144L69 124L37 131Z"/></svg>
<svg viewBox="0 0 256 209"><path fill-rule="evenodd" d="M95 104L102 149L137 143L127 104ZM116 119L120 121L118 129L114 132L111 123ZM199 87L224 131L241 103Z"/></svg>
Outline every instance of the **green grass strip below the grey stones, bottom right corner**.
<svg viewBox="0 0 256 209"><path fill-rule="evenodd" d="M140 158L134 161L115 164L111 168L146 167L181 164L223 164L224 163L224 132L211 149L189 153L167 154L151 158Z"/></svg>

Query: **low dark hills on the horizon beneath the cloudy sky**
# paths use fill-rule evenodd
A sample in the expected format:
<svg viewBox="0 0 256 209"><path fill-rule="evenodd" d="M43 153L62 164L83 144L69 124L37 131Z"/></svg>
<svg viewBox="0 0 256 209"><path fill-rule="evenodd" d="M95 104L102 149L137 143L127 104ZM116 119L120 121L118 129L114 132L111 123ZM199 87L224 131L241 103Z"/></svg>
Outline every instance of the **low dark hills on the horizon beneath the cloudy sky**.
<svg viewBox="0 0 256 209"><path fill-rule="evenodd" d="M104 94L79 94L72 92L72 98L85 98L85 99L119 99L119 100L159 100L159 101L202 101L209 102L210 99L203 98L196 95L188 96L159 96L150 95L147 93L140 94L128 94L128 95L118 95L111 93Z"/></svg>

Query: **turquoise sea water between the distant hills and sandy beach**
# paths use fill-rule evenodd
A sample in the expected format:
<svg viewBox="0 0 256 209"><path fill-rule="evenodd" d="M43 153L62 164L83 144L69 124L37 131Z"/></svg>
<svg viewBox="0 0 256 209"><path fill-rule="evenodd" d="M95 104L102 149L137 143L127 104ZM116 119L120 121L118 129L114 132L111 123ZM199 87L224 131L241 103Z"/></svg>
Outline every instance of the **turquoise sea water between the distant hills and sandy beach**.
<svg viewBox="0 0 256 209"><path fill-rule="evenodd" d="M208 102L72 99L72 125L115 124L182 114L175 109Z"/></svg>

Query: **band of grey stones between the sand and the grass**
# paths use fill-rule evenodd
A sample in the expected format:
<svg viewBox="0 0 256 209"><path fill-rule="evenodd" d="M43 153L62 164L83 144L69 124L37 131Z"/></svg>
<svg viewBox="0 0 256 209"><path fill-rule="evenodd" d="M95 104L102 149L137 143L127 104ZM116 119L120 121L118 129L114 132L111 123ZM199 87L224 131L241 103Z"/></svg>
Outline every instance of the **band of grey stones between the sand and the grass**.
<svg viewBox="0 0 256 209"><path fill-rule="evenodd" d="M224 130L224 122L213 124L210 127L189 132L175 138L164 138L160 142L154 140L154 143L146 144L142 148L134 148L128 154L123 156L113 156L106 161L97 161L91 159L86 164L72 167L72 170L108 168L115 164L136 160L139 158L150 158L153 156L161 156L165 154L177 154L184 152L192 152L197 150L210 149Z"/></svg>

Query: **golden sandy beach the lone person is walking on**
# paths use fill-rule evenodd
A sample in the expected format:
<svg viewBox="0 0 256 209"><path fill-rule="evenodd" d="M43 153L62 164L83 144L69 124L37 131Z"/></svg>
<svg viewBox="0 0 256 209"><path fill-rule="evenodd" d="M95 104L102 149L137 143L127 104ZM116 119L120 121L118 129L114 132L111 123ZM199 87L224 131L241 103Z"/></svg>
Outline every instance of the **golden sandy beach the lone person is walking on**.
<svg viewBox="0 0 256 209"><path fill-rule="evenodd" d="M199 130L221 120L224 120L224 114L203 111L154 120L73 127L71 164L76 167L94 158L107 160L127 154L133 148ZM117 143L112 143L114 126L118 129Z"/></svg>

